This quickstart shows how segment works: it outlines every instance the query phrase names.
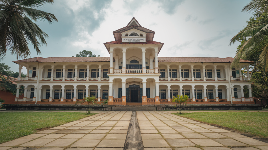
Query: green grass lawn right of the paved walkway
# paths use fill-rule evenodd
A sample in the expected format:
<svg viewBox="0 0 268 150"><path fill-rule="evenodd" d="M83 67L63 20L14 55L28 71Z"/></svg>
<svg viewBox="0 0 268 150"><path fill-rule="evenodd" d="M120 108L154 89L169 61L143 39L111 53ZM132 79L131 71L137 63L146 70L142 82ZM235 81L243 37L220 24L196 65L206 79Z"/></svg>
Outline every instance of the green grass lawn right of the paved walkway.
<svg viewBox="0 0 268 150"><path fill-rule="evenodd" d="M225 126L259 137L268 137L268 112L196 112L172 114Z"/></svg>

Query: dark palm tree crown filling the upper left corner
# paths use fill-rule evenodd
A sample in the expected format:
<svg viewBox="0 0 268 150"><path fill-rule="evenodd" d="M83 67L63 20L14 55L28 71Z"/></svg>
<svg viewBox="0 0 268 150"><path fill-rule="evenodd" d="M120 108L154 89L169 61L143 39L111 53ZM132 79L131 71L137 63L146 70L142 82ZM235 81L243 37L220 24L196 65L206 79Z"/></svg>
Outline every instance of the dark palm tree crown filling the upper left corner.
<svg viewBox="0 0 268 150"><path fill-rule="evenodd" d="M0 0L0 60L5 58L7 49L17 59L30 54L28 44L32 44L37 54L40 45L46 45L48 35L33 21L47 20L49 24L58 21L50 13L37 10L53 0ZM32 21L33 20L33 21Z"/></svg>

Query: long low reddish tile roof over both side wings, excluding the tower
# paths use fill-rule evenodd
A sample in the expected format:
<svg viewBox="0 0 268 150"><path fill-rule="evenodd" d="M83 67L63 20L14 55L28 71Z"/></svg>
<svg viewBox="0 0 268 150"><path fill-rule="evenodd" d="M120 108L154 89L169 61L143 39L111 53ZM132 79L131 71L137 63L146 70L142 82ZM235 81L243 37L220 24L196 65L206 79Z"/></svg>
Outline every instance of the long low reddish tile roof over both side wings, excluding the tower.
<svg viewBox="0 0 268 150"><path fill-rule="evenodd" d="M231 63L232 60L232 57L158 57L158 62ZM110 62L110 57L34 57L13 62ZM240 63L255 62L240 59Z"/></svg>

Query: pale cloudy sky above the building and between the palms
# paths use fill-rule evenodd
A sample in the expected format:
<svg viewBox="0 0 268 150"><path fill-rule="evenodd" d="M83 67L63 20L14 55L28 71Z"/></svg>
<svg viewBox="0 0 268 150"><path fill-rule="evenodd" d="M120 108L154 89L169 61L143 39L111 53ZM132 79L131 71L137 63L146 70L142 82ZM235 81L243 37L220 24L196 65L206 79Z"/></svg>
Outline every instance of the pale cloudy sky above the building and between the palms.
<svg viewBox="0 0 268 150"><path fill-rule="evenodd" d="M249 0L55 0L40 10L54 14L58 22L39 21L49 34L40 57L71 57L80 51L109 56L103 43L114 41L112 32L135 17L141 26L155 31L154 41L164 43L161 56L234 57L230 39L246 26L252 15L242 13ZM32 46L31 57L37 53ZM2 61L12 71L18 65L7 53ZM26 69L23 69L26 73Z"/></svg>

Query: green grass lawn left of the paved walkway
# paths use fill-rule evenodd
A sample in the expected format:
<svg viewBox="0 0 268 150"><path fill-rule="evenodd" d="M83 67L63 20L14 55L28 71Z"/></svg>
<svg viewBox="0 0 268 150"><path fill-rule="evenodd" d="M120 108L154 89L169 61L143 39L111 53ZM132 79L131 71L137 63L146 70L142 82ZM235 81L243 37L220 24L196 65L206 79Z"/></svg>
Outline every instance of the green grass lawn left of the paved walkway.
<svg viewBox="0 0 268 150"><path fill-rule="evenodd" d="M0 144L98 113L74 112L0 112Z"/></svg>

